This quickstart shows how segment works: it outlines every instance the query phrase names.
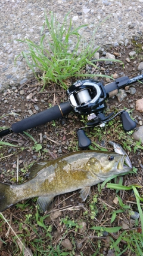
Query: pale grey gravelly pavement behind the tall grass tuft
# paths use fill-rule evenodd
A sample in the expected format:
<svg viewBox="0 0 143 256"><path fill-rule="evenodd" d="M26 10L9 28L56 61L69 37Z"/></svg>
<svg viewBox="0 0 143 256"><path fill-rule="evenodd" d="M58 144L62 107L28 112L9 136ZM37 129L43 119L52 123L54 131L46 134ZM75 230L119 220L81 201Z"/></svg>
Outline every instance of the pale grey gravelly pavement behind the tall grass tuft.
<svg viewBox="0 0 143 256"><path fill-rule="evenodd" d="M8 86L21 85L32 76L32 71L21 56L14 64L15 57L22 50L27 50L27 46L17 40L28 38L36 43L39 42L41 28L45 21L44 11L48 17L49 12L53 11L60 22L70 11L69 17L73 25L88 24L80 31L86 41L91 40L93 31L97 28L96 46L106 49L111 45L116 47L119 44L125 44L126 46L131 38L138 40L142 37L142 3L143 0L1 0L0 90ZM70 44L72 48L72 38Z"/></svg>

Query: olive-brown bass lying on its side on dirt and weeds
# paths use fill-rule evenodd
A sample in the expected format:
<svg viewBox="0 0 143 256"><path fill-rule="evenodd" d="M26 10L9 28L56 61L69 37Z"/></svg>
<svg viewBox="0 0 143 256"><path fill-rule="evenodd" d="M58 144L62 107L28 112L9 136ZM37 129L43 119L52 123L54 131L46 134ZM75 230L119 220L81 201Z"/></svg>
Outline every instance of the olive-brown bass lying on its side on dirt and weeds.
<svg viewBox="0 0 143 256"><path fill-rule="evenodd" d="M132 170L125 165L125 159L126 155L115 152L83 150L34 164L27 182L20 185L0 183L0 212L33 197L38 197L39 210L45 212L56 195L77 189L85 201L91 186L113 174Z"/></svg>

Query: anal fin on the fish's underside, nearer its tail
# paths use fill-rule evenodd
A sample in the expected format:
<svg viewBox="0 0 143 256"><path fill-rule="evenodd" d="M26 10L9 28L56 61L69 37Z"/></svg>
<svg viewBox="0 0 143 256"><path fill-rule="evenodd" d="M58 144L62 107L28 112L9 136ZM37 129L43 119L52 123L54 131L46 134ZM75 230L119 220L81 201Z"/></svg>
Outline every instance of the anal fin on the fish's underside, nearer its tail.
<svg viewBox="0 0 143 256"><path fill-rule="evenodd" d="M48 195L47 197L38 197L37 205L40 212L45 212L53 199L53 195Z"/></svg>

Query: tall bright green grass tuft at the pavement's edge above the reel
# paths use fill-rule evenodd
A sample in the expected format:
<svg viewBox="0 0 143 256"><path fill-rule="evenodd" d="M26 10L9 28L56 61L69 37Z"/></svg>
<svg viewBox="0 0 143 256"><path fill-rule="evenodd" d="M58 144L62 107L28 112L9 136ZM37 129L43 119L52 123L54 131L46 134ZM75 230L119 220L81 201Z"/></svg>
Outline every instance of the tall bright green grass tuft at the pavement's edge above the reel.
<svg viewBox="0 0 143 256"><path fill-rule="evenodd" d="M71 19L69 21L69 13L67 13L61 24L57 21L54 14L51 13L50 20L45 15L45 23L41 30L39 44L27 39L22 41L27 44L29 50L23 51L21 55L26 59L27 65L29 65L29 68L35 75L35 68L38 68L42 73L40 78L43 80L44 86L47 82L54 82L67 89L66 80L72 77L76 79L79 79L79 77L108 77L101 74L82 73L86 64L98 68L91 59L94 58L95 53L100 48L95 48L94 36L91 38L90 43L87 43L80 36L80 29L86 26L82 25L74 28ZM71 41L74 41L73 50L70 50ZM82 49L80 52L79 48ZM112 59L111 61L114 60ZM94 60L94 62L96 61Z"/></svg>

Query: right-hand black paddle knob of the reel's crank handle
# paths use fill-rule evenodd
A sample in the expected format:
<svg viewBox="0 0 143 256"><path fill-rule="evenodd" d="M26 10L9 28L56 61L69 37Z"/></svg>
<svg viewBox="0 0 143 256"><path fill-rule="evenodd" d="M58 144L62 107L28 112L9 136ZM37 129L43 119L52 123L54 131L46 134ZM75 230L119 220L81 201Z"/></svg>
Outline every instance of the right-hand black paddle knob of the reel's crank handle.
<svg viewBox="0 0 143 256"><path fill-rule="evenodd" d="M124 111L121 113L120 116L122 119L124 131L131 131L132 129L134 129L136 127L136 122L130 118L128 112Z"/></svg>

